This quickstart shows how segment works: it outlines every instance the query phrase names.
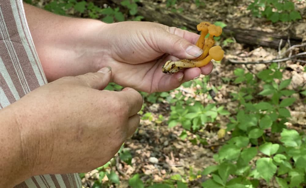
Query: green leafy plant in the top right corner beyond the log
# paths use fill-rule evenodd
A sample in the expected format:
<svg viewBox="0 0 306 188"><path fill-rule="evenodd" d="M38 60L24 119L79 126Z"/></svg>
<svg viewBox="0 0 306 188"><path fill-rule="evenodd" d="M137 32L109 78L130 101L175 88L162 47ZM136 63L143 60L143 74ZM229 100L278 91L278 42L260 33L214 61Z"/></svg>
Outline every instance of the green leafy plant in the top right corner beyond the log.
<svg viewBox="0 0 306 188"><path fill-rule="evenodd" d="M294 3L289 0L255 0L248 6L248 9L254 16L264 16L273 23L301 19L300 13L295 10Z"/></svg>

